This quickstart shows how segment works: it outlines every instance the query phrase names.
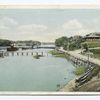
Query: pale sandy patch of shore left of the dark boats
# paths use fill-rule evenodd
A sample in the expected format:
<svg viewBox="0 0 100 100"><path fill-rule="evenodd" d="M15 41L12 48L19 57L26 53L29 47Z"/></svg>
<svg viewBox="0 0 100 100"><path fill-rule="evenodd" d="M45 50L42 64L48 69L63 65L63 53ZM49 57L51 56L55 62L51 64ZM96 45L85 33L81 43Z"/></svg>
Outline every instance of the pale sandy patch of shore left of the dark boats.
<svg viewBox="0 0 100 100"><path fill-rule="evenodd" d="M75 79L68 82L63 88L61 88L59 91L62 92L72 92L73 88L75 87Z"/></svg>

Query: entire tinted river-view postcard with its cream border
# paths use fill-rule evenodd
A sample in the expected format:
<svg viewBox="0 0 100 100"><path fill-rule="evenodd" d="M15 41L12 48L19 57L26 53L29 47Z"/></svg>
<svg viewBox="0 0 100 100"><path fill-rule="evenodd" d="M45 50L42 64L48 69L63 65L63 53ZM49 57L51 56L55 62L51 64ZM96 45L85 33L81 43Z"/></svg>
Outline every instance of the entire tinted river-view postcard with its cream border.
<svg viewBox="0 0 100 100"><path fill-rule="evenodd" d="M100 9L0 6L0 91L100 91Z"/></svg>

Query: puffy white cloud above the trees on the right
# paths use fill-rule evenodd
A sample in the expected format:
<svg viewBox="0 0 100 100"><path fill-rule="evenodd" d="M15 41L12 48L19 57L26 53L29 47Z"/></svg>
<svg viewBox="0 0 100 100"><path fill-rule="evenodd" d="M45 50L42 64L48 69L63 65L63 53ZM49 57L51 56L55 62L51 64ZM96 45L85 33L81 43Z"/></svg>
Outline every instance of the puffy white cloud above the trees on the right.
<svg viewBox="0 0 100 100"><path fill-rule="evenodd" d="M90 32L95 32L98 29L97 20L87 20L85 23L77 19L69 20L62 25L66 36L86 35Z"/></svg>

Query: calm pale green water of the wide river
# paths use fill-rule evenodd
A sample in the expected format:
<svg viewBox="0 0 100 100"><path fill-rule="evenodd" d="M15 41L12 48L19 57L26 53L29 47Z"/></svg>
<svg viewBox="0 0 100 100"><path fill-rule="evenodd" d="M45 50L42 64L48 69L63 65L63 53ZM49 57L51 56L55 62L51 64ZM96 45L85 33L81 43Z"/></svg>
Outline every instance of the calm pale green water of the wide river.
<svg viewBox="0 0 100 100"><path fill-rule="evenodd" d="M0 58L0 91L56 91L57 84L63 86L75 77L74 69L66 59L50 54L40 59L10 55Z"/></svg>

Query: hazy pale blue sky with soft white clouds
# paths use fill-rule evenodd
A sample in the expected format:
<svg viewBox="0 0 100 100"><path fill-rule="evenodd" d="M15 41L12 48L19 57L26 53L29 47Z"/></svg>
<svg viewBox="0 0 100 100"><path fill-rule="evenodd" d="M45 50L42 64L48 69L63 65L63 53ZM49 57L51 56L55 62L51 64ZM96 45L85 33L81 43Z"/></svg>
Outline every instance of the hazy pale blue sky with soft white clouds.
<svg viewBox="0 0 100 100"><path fill-rule="evenodd" d="M100 32L99 9L0 9L0 38L55 41Z"/></svg>

